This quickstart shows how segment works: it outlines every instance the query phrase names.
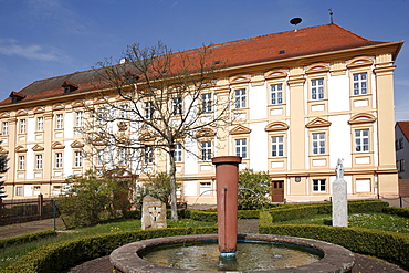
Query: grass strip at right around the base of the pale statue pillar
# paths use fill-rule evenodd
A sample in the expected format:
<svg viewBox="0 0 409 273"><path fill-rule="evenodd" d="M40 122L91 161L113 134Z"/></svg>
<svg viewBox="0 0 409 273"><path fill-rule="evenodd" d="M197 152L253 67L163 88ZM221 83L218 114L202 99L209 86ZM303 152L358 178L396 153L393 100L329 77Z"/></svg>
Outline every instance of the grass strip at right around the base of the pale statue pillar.
<svg viewBox="0 0 409 273"><path fill-rule="evenodd" d="M323 224L332 225L331 214L317 214L274 224ZM354 213L348 216L348 227L409 233L409 219L385 213Z"/></svg>

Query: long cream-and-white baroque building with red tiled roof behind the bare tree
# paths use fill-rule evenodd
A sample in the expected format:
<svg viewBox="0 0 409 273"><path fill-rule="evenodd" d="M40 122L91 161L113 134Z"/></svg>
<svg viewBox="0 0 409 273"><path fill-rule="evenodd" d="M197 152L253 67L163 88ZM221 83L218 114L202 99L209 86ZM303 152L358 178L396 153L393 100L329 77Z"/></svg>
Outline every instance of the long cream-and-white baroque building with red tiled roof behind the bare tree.
<svg viewBox="0 0 409 273"><path fill-rule="evenodd" d="M238 122L222 145L208 136L193 151L241 156L240 168L268 171L277 202L329 200L338 158L349 199L396 197L394 63L402 43L326 24L210 46L228 61L210 94L233 94ZM98 155L84 159L81 130L94 73L36 81L0 103L8 199L56 196L65 178L98 165ZM177 155L180 195L214 203L210 157Z"/></svg>

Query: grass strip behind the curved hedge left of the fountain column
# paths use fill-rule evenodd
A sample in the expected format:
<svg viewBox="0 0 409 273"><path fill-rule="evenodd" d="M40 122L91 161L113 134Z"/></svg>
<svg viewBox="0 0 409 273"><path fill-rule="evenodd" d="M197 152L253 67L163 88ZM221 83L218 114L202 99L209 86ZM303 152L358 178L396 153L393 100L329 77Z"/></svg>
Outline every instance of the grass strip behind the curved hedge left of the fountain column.
<svg viewBox="0 0 409 273"><path fill-rule="evenodd" d="M167 225L168 228L188 228L188 227L196 228L196 227L214 225L214 223L195 221L191 219L182 219L177 222L167 220ZM97 234L113 233L113 232L119 232L119 231L134 231L134 230L140 230L140 220L125 220L125 221L118 221L118 222L97 224L97 225L90 227L90 228L67 230L67 231L59 232L57 237L46 238L46 239L38 240L31 243L25 243L25 244L12 245L7 249L0 249L0 269L7 267L8 265L15 262L19 258L29 253L30 251L33 251L44 245L49 245L52 243L71 240L71 239L80 238L80 237L97 235Z"/></svg>

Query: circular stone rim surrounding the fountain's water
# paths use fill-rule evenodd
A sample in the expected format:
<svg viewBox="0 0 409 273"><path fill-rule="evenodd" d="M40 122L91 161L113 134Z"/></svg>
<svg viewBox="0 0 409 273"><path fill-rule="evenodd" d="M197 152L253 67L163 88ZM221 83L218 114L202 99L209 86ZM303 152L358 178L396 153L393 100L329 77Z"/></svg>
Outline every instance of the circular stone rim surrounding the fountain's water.
<svg viewBox="0 0 409 273"><path fill-rule="evenodd" d="M211 273L214 271L193 271L186 269L174 269L158 264L154 264L149 261L141 259L138 253L162 244L182 243L192 241L211 241L218 240L218 234L197 234L197 235L178 235L178 237L165 237L154 238L149 240L137 241L125 244L114 250L109 255L112 265L124 273L159 273L159 272L201 272ZM349 272L355 265L355 255L349 250L332 244L324 241L295 238L286 235L274 235L274 234L238 234L238 240L244 241L271 241L280 243L292 243L301 246L313 248L323 253L323 258L316 262L305 264L298 267L277 269L268 271L249 271L249 272Z"/></svg>

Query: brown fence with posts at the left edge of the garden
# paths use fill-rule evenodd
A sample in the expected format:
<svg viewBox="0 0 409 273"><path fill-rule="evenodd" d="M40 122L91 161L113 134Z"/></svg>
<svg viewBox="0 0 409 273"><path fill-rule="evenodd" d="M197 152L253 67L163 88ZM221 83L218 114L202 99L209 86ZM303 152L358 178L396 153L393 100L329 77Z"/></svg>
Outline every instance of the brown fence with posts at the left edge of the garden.
<svg viewBox="0 0 409 273"><path fill-rule="evenodd" d="M40 195L35 199L2 200L0 198L0 225L53 218L54 201Z"/></svg>

